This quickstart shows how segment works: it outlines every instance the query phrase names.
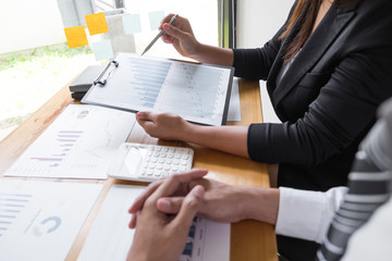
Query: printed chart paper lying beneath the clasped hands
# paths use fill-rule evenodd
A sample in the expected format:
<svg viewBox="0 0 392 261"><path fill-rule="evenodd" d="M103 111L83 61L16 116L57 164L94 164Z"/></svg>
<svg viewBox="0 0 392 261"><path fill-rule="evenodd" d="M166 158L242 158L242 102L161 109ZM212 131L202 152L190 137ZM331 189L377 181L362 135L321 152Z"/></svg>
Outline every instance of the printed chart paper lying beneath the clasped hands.
<svg viewBox="0 0 392 261"><path fill-rule="evenodd" d="M126 185L111 187L78 261L126 259L134 236L134 229L127 227L131 220L127 210L144 189L145 187ZM229 261L230 224L195 219L180 260Z"/></svg>

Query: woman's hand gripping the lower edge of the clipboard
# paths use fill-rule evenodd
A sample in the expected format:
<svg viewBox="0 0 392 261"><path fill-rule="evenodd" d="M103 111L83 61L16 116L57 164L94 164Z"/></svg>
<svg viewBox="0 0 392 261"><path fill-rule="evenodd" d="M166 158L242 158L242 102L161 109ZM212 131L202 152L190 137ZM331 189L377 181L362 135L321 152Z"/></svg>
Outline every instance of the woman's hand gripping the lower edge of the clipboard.
<svg viewBox="0 0 392 261"><path fill-rule="evenodd" d="M138 124L150 136L167 140L183 140L192 124L171 113L138 112Z"/></svg>

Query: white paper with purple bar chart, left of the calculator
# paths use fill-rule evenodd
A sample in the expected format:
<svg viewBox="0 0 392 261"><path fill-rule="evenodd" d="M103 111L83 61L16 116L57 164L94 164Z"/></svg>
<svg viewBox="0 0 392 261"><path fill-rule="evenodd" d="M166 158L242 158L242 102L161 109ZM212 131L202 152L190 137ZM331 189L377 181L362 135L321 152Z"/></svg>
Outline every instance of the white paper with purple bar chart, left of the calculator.
<svg viewBox="0 0 392 261"><path fill-rule="evenodd" d="M131 112L70 104L4 176L105 179L135 122Z"/></svg>

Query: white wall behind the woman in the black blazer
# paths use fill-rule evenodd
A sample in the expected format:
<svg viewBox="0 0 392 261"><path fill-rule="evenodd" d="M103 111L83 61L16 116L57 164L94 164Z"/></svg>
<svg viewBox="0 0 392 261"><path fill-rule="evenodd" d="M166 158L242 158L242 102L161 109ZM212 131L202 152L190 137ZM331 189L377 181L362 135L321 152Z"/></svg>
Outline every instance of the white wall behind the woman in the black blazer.
<svg viewBox="0 0 392 261"><path fill-rule="evenodd" d="M284 24L294 0L238 0L237 48L262 47ZM264 122L280 122L260 82Z"/></svg>

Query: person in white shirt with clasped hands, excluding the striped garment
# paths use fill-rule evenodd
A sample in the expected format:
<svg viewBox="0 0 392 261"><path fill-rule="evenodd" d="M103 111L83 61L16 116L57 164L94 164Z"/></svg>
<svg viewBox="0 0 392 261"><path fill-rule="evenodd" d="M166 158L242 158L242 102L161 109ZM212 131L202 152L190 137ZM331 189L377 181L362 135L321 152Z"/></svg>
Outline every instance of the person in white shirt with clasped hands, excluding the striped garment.
<svg viewBox="0 0 392 261"><path fill-rule="evenodd" d="M392 179L392 99L381 109L382 117L363 147L370 160L381 165ZM207 173L206 170L193 170L148 186L130 208L133 214L130 227L136 228L136 233L128 260L175 260L184 248L195 214L218 222L249 219L268 222L275 225L279 235L321 244L348 191L347 187L319 192L285 187L230 186L204 178ZM172 219L167 214L176 215ZM391 216L392 200L389 199L354 233L342 260L390 259ZM169 246L163 247L168 243Z"/></svg>

